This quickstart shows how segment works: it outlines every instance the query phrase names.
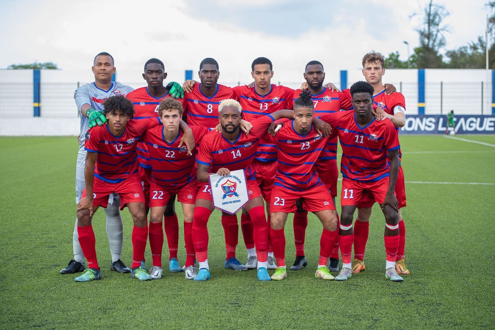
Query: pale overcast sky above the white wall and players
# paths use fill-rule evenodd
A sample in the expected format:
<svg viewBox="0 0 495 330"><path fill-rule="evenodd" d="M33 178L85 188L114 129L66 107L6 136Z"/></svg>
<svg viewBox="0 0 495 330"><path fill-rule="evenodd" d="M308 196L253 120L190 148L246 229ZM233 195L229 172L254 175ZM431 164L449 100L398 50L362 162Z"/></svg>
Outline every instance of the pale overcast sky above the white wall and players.
<svg viewBox="0 0 495 330"><path fill-rule="evenodd" d="M484 36L487 0L436 2L450 12L446 48ZM62 69L86 70L96 53L108 51L119 80L127 81L139 81L150 57L182 79L184 69L196 77L201 59L214 57L225 84L250 80L250 64L258 56L272 60L275 82L294 81L313 59L324 64L327 78L336 77L341 69L359 68L372 49L386 55L398 50L406 59L403 41L411 52L418 46L414 28L420 17L410 15L427 3L0 0L0 68L52 61Z"/></svg>

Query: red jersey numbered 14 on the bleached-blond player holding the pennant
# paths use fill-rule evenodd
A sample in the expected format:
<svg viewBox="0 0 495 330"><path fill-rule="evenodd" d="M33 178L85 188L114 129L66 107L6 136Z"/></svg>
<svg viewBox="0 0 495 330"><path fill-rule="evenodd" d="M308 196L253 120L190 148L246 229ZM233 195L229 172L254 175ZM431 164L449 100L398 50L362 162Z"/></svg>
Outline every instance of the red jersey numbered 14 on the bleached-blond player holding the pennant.
<svg viewBox="0 0 495 330"><path fill-rule="evenodd" d="M254 119L248 135L241 130L235 142L227 141L222 134L213 131L201 140L196 161L203 165L212 165L213 172L225 167L230 171L244 169L247 180L256 180L255 172L251 169L260 138L266 133L273 121L270 115Z"/></svg>

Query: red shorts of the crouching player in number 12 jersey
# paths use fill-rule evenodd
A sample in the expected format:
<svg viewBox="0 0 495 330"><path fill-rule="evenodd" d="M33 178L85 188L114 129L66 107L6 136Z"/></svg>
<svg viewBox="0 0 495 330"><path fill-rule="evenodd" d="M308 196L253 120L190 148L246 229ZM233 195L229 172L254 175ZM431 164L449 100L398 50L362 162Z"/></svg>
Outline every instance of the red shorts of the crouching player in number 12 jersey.
<svg viewBox="0 0 495 330"><path fill-rule="evenodd" d="M111 193L120 195L120 209L123 210L127 203L144 203L143 185L137 176L132 176L118 184L112 184L98 178L93 182L93 206L106 207L108 205L108 196ZM82 197L86 196L86 188L83 190Z"/></svg>

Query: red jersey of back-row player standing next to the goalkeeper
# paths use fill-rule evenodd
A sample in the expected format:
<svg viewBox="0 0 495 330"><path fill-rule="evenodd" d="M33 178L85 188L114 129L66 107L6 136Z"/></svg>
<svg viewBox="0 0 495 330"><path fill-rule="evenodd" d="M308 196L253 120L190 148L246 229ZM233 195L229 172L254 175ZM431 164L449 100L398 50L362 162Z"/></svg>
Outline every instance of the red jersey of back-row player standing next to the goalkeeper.
<svg viewBox="0 0 495 330"><path fill-rule="evenodd" d="M161 100L170 98L172 96L170 96L170 94L167 92L161 97L154 97L148 93L148 87L142 87L127 94L126 97L131 100L132 104L134 104L135 114L133 119L144 119L157 117L158 105L160 104ZM139 166L144 168L151 168L151 163L149 162L148 148L146 147L146 144L142 141L139 141L136 151L138 153Z"/></svg>

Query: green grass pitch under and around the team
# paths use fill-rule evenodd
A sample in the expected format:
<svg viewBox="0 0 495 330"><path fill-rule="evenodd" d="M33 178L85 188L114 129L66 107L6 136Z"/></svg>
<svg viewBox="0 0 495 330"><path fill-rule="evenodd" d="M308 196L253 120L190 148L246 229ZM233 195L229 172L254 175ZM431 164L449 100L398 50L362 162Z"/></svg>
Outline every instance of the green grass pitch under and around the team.
<svg viewBox="0 0 495 330"><path fill-rule="evenodd" d="M495 144L495 136L461 136ZM401 136L409 182L495 184L495 147L444 136ZM2 328L494 328L494 185L406 183L403 283L385 279L384 219L375 204L366 270L347 282L314 278L321 224L310 214L308 267L281 282L224 269L219 212L208 223L211 280L165 272L141 283L110 272L104 212L94 218L103 279L75 283L59 271L72 258L77 139L0 138L0 319ZM440 151L440 152L436 152ZM340 204L337 206L340 209ZM181 208L178 206L179 219ZM131 264L126 209L122 259ZM239 235L238 258L246 261ZM287 262L295 255L292 216ZM183 242L182 223L180 240ZM183 243L179 261L185 260ZM166 243L164 244L166 246ZM149 247L146 252L151 263ZM164 250L164 268L168 254Z"/></svg>

